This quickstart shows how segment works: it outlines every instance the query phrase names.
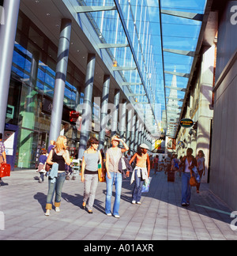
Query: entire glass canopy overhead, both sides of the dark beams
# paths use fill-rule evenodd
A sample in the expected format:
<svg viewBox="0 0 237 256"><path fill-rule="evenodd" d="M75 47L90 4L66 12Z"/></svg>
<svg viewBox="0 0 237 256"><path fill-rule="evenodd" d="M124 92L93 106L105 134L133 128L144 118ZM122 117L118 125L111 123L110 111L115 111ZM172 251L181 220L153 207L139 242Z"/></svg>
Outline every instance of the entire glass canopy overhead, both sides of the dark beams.
<svg viewBox="0 0 237 256"><path fill-rule="evenodd" d="M175 137L206 0L70 2L86 13L150 133Z"/></svg>

